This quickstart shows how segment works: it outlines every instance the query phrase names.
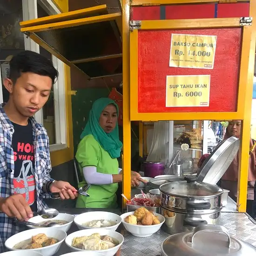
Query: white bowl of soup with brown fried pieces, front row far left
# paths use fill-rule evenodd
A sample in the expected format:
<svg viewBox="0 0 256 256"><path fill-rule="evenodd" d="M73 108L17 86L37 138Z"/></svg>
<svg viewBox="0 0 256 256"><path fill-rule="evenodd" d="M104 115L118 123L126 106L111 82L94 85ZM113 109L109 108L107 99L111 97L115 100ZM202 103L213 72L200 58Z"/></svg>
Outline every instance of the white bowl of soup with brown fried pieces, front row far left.
<svg viewBox="0 0 256 256"><path fill-rule="evenodd" d="M67 233L61 229L28 229L8 238L5 246L9 250L40 252L43 256L53 256L61 247Z"/></svg>

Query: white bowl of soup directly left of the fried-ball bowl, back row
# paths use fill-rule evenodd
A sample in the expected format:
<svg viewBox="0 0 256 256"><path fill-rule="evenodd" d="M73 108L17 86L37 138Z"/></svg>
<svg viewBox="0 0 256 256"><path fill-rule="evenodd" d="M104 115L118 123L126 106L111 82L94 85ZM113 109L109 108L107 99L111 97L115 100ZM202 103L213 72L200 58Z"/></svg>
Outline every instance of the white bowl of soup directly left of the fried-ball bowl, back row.
<svg viewBox="0 0 256 256"><path fill-rule="evenodd" d="M74 218L78 229L109 229L115 231L122 219L112 212L95 211L85 212Z"/></svg>

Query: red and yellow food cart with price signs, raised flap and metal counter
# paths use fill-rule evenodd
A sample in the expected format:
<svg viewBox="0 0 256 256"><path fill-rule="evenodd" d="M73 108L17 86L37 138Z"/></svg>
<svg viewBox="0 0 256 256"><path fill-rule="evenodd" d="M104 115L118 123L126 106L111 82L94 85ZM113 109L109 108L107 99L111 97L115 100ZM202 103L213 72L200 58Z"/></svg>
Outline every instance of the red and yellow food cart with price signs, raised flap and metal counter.
<svg viewBox="0 0 256 256"><path fill-rule="evenodd" d="M256 46L253 18L253 0L123 0L122 14L92 7L21 22L21 31L88 77L88 63L122 56L123 194L128 198L132 121L198 121L200 128L206 120L242 120L237 206L229 199L221 222L230 234L256 245L255 222L244 213ZM118 33L122 35L121 52L115 47L95 58L99 51L83 54L81 43L76 54L70 51L102 26L116 45ZM157 255L169 235L160 230L147 238L134 239L126 231L124 236L121 255Z"/></svg>

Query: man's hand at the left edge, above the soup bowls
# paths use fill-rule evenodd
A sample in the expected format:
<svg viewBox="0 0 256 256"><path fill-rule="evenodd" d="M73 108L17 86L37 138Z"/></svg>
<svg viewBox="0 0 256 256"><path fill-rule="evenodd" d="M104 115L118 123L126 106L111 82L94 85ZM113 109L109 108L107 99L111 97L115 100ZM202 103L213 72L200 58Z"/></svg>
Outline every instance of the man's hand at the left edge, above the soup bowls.
<svg viewBox="0 0 256 256"><path fill-rule="evenodd" d="M20 194L0 198L0 211L8 217L16 217L19 221L28 221L29 218L33 217L33 212L29 204Z"/></svg>

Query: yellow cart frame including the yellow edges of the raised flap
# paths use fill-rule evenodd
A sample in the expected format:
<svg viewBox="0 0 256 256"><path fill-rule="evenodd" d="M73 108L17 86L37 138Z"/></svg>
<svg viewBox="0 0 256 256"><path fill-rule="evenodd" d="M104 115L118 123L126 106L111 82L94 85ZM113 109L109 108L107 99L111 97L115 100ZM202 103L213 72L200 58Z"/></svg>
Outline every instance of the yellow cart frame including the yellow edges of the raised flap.
<svg viewBox="0 0 256 256"><path fill-rule="evenodd" d="M73 63L68 61L52 47L47 45L36 32L61 29L64 27L75 27L94 22L106 20L116 20L118 29L122 34L122 56L123 56L123 193L129 198L131 195L131 121L158 121L158 120L243 120L242 142L240 150L240 171L238 186L238 210L246 210L246 191L248 179L249 162L249 137L251 120L251 102L252 102L252 84L254 74L255 47L256 47L256 1L250 1L250 17L252 17L252 26L243 27L243 45L241 55L241 72L239 78L238 105L236 112L229 113L147 113L137 112L137 47L131 48L130 45L136 45L137 30L130 32L129 17L132 6L159 6L172 4L189 3L230 3L245 2L245 0L122 0L121 13L106 12L106 5L91 7L83 10L77 10L69 13L61 13L36 20L29 20L20 23L21 31L26 33L40 46L46 48L51 54L58 57L69 66ZM99 14L100 13L100 14ZM174 28L203 28L203 27L240 27L239 19L200 19L200 20L145 20L141 21L140 29L174 29ZM115 57L115 56L113 56ZM133 66L130 70L130 61ZM135 65L134 65L135 64ZM243 85L243 86L242 86ZM68 103L70 99L70 85L67 89ZM135 97L130 97L135 93ZM248 111L249 110L249 111ZM142 132L140 125L140 131ZM71 134L70 134L71 136ZM140 141L140 154L142 154L142 141ZM125 201L124 201L125 202Z"/></svg>

